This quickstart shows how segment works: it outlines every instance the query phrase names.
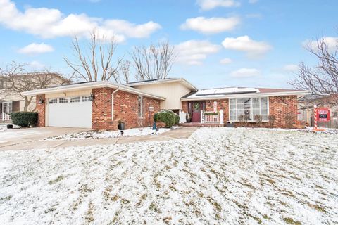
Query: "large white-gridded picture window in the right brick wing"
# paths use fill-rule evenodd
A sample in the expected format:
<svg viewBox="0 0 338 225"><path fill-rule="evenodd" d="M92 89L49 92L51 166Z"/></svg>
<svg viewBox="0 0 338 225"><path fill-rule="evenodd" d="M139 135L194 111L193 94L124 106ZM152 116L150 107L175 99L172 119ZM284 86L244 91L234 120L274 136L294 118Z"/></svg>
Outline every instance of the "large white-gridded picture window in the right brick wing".
<svg viewBox="0 0 338 225"><path fill-rule="evenodd" d="M261 115L263 121L268 121L268 98L232 98L230 99L230 121L239 121L239 116L245 116L254 122L255 115Z"/></svg>

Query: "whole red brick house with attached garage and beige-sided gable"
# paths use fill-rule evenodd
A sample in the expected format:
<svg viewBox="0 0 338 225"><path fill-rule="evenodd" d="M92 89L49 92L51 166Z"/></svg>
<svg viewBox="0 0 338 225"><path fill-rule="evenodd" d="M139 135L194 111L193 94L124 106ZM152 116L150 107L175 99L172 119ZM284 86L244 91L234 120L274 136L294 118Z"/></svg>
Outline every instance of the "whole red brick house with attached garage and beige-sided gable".
<svg viewBox="0 0 338 225"><path fill-rule="evenodd" d="M240 118L245 115L246 126L255 126L254 116L261 115L262 123L268 126L269 115L274 115L273 127L287 127L288 115L297 127L301 124L297 99L309 91L242 87L199 90L186 79L169 78L123 85L83 82L24 94L37 98L39 127L115 130L119 120L127 129L140 123L149 126L154 113L163 109L178 113L182 125L242 125Z"/></svg>

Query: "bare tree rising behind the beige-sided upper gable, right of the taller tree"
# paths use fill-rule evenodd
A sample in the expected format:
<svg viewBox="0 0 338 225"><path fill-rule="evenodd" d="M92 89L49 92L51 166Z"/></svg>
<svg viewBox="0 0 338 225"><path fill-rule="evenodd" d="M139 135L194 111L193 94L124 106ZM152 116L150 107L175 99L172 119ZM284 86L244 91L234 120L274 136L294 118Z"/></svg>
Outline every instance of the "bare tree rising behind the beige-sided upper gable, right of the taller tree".
<svg viewBox="0 0 338 225"><path fill-rule="evenodd" d="M168 77L175 60L174 47L168 41L158 43L157 46L135 47L131 55L137 80Z"/></svg>

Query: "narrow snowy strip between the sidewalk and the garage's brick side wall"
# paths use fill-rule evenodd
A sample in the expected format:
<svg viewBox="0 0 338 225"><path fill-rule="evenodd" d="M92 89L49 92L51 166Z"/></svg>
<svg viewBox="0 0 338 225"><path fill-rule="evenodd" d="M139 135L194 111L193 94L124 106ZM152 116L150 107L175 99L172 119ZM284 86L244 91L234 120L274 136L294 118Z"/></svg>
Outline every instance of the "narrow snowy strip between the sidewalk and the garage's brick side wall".
<svg viewBox="0 0 338 225"><path fill-rule="evenodd" d="M172 128L159 128L156 131L156 134L163 134L172 129L177 129L180 127ZM123 136L142 136L142 135L151 135L154 134L152 127L144 127L142 130L139 128L126 129ZM55 141L55 140L77 140L77 139L109 139L120 136L120 131L84 131L74 134L65 134L61 136L52 136L46 138L43 141Z"/></svg>

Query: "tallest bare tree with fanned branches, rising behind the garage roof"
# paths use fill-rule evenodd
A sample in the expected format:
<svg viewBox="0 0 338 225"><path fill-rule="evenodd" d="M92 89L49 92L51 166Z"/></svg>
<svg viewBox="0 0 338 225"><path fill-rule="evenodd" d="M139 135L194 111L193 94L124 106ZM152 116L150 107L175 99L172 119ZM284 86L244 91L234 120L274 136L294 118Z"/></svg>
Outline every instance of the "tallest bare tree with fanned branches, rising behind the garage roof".
<svg viewBox="0 0 338 225"><path fill-rule="evenodd" d="M84 79L87 82L110 80L119 70L121 59L118 59L113 66L113 56L116 49L116 41L108 39L94 30L90 34L87 46L80 45L77 36L72 41L73 56L75 60L71 61L63 57L65 63L73 69L77 79Z"/></svg>

